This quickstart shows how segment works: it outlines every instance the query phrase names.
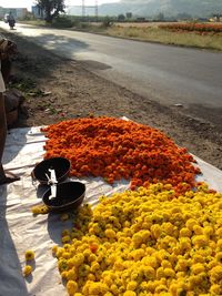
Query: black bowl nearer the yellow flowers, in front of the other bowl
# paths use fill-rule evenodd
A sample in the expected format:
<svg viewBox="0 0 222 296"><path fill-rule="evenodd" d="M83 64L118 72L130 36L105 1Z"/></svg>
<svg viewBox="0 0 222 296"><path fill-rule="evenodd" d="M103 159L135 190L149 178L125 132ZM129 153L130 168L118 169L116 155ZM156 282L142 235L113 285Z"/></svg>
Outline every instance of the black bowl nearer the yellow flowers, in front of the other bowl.
<svg viewBox="0 0 222 296"><path fill-rule="evenodd" d="M43 203L53 212L77 210L84 200L85 185L81 182L64 182L57 185L57 197L49 198L51 188L44 192Z"/></svg>

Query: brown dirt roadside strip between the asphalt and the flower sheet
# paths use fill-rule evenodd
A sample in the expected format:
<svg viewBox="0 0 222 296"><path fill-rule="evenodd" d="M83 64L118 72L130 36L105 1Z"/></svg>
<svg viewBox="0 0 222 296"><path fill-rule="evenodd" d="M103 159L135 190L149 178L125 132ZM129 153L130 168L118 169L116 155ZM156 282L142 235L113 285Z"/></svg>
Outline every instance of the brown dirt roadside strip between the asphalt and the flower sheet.
<svg viewBox="0 0 222 296"><path fill-rule="evenodd" d="M181 106L163 106L91 73L85 64L60 59L18 35L13 83L26 95L28 118L13 127L47 125L93 113L127 116L157 127L191 153L222 170L222 130L185 114Z"/></svg>

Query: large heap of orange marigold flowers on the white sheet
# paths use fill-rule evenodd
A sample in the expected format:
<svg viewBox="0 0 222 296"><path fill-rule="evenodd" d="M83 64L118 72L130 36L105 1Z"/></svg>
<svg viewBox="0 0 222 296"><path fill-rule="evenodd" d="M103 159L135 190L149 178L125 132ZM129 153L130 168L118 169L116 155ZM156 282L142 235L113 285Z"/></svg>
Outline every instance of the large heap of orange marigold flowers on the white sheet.
<svg viewBox="0 0 222 296"><path fill-rule="evenodd" d="M150 183L170 183L178 193L194 186L192 155L157 129L114 118L63 121L46 129L46 159L71 161L72 176L131 180L131 190Z"/></svg>

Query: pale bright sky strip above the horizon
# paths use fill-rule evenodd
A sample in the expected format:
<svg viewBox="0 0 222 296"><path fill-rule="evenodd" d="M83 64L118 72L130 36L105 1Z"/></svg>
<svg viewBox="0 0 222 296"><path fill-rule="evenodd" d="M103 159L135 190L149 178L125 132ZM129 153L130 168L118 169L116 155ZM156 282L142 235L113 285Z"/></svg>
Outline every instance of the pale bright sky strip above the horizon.
<svg viewBox="0 0 222 296"><path fill-rule="evenodd" d="M113 3L118 0L98 0L98 4ZM65 0L67 6L81 6L82 0ZM84 0L85 6L94 6L95 0ZM0 0L0 7L4 8L28 8L31 10L31 6L34 6L34 0Z"/></svg>

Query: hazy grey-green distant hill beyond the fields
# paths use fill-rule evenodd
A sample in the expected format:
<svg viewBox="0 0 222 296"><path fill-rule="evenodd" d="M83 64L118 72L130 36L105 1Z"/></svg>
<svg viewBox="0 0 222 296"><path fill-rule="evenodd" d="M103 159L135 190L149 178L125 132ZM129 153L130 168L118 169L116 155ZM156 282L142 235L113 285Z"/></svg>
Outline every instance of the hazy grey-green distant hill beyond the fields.
<svg viewBox="0 0 222 296"><path fill-rule="evenodd" d="M80 8L70 9L70 14L81 14ZM222 0L122 0L117 3L99 6L99 16L118 16L132 12L138 17L154 17L163 13L164 17L175 17L188 13L192 17L209 17L212 13L222 13ZM91 9L87 14L94 14Z"/></svg>

